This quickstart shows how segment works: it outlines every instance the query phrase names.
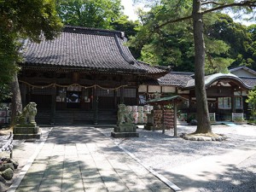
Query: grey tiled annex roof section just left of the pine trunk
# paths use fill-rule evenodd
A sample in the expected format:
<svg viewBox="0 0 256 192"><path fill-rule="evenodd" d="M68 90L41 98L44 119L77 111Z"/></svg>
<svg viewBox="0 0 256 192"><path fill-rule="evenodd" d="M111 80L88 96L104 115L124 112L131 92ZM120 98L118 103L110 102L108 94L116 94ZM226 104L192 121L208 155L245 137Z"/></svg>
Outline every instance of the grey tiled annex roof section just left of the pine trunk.
<svg viewBox="0 0 256 192"><path fill-rule="evenodd" d="M170 72L158 79L158 82L160 85L183 87L190 79L193 79L191 77L193 74L194 73Z"/></svg>

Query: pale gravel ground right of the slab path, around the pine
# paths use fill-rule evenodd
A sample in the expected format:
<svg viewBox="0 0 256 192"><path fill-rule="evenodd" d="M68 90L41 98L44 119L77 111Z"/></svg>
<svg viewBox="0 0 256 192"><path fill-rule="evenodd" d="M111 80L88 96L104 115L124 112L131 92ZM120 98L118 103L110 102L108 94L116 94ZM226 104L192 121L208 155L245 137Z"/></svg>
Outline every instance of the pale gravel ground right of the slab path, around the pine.
<svg viewBox="0 0 256 192"><path fill-rule="evenodd" d="M177 133L178 135L182 132L189 133L195 129L195 126L179 125ZM113 129L102 129L101 131L106 137L110 137L110 132ZM228 137L224 142L187 141L180 137L173 137L172 130L166 131L166 134L162 134L161 131L145 131L142 128L137 131L140 137L113 138L113 141L130 151L145 165L164 175L170 167L182 166L207 155L227 154L234 149L255 150L253 156L243 160L237 166L229 166L227 172L219 174L218 179L214 181L204 183L198 191L256 191L255 125L234 127L213 125L214 133L224 134ZM172 181L172 179L170 180Z"/></svg>

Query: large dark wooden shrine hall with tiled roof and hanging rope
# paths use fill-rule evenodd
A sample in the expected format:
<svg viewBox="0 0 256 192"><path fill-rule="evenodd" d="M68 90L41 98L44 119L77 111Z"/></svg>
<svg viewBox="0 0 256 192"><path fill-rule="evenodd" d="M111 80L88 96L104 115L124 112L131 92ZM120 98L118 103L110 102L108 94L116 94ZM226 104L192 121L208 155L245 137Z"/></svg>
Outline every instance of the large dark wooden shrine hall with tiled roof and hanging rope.
<svg viewBox="0 0 256 192"><path fill-rule="evenodd" d="M26 41L22 103L38 104L38 124L116 123L119 103L139 105L138 88L169 71L137 61L119 31L66 26L54 40Z"/></svg>

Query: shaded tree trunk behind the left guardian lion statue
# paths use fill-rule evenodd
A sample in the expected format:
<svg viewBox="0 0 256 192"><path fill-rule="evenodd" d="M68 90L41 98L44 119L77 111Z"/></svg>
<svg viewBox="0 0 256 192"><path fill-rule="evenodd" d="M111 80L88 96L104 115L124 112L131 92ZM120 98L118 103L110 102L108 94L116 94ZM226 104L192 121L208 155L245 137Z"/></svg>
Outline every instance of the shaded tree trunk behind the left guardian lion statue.
<svg viewBox="0 0 256 192"><path fill-rule="evenodd" d="M20 86L18 82L18 74L15 73L14 80L11 83L11 90L12 90L12 117L11 117L11 126L16 124L15 119L19 112L22 111L22 102L20 96Z"/></svg>

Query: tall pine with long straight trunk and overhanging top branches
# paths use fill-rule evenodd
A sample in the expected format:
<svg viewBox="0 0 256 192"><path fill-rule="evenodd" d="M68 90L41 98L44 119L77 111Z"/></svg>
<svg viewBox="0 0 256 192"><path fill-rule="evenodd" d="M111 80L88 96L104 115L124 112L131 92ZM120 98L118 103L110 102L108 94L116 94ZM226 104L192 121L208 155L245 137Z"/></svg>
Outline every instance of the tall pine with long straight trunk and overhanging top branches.
<svg viewBox="0 0 256 192"><path fill-rule="evenodd" d="M245 10L246 13L253 13L256 7L256 1L159 1L163 6L160 11L154 12L155 20L148 22L148 28L151 34L157 33L165 26L173 26L184 20L192 20L194 51L195 51L195 96L197 108L198 125L195 131L197 133L212 134L209 111L207 107L207 93L205 88L205 64L206 64L206 45L204 37L204 17L213 12L223 9ZM148 35L151 37L152 35Z"/></svg>

